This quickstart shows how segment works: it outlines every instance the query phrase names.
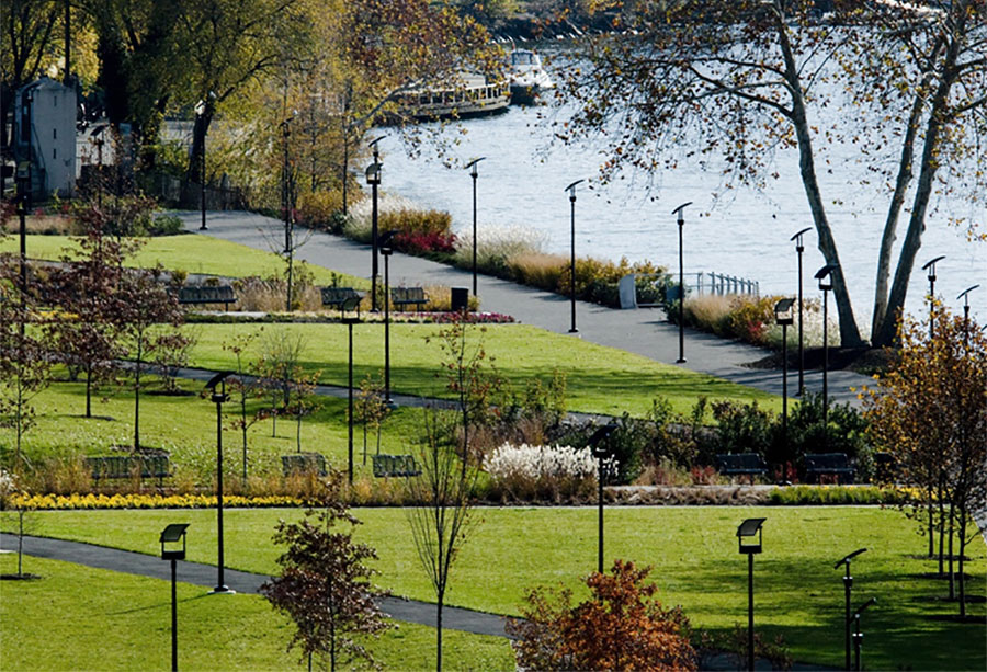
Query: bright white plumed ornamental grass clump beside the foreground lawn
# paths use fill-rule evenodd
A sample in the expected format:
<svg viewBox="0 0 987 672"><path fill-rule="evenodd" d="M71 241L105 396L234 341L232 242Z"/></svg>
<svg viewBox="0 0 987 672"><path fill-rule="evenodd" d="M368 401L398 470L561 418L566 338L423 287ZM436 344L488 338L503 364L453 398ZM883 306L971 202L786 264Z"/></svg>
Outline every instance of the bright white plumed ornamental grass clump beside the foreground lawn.
<svg viewBox="0 0 987 672"><path fill-rule="evenodd" d="M504 443L484 460L490 496L503 501L574 501L592 494L597 459L590 448Z"/></svg>

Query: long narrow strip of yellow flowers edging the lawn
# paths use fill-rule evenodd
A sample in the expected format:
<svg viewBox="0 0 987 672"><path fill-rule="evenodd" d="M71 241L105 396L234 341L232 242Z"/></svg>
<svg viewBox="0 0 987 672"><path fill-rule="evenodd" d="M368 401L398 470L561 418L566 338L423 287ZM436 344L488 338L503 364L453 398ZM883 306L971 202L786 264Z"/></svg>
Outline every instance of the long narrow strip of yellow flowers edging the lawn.
<svg viewBox="0 0 987 672"><path fill-rule="evenodd" d="M296 497L223 497L224 506L300 506ZM14 494L12 509L208 509L216 505L215 494Z"/></svg>

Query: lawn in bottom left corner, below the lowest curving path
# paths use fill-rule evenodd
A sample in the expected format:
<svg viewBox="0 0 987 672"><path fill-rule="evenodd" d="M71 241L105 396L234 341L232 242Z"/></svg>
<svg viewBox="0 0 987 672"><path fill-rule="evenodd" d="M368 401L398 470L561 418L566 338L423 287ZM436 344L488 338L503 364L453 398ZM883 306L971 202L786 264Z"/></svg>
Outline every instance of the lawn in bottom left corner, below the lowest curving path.
<svg viewBox="0 0 987 672"><path fill-rule="evenodd" d="M0 556L13 572L15 556ZM171 586L79 565L25 558L39 581L0 583L0 650L4 670L168 670L171 667ZM179 665L182 670L304 670L287 652L294 626L260 595L208 595L178 584ZM435 668L435 630L398 623L364 643L386 670ZM499 637L443 633L450 670L513 670ZM349 668L347 668L349 669Z"/></svg>

